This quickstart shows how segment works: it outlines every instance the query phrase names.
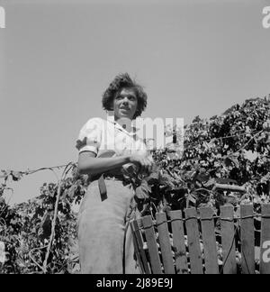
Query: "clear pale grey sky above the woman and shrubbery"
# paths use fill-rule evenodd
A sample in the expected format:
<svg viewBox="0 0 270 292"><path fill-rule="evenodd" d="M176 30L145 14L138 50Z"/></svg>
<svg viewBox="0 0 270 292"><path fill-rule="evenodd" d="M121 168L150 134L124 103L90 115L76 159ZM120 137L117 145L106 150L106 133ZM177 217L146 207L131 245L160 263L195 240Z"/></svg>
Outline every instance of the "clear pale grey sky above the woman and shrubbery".
<svg viewBox="0 0 270 292"><path fill-rule="evenodd" d="M269 0L0 0L0 169L76 161L76 137L120 72L145 87L144 117L211 117L270 93ZM49 171L11 183L38 196ZM7 193L9 196L10 193Z"/></svg>

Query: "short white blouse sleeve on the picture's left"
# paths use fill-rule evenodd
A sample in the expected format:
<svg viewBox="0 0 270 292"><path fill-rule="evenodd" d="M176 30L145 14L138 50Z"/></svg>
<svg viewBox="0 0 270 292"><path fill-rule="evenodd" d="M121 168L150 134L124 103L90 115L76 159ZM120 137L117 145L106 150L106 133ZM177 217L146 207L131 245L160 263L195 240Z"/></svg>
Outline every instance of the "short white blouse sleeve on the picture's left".
<svg viewBox="0 0 270 292"><path fill-rule="evenodd" d="M80 152L92 151L97 154L102 141L103 120L93 118L82 127L76 140L76 149Z"/></svg>

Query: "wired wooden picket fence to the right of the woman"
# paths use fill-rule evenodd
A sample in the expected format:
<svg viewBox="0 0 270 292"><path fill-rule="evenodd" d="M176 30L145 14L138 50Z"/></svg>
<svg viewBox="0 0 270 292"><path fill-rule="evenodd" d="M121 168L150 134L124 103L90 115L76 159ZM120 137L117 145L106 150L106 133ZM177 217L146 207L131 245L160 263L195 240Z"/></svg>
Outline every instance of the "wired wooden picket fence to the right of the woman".
<svg viewBox="0 0 270 292"><path fill-rule="evenodd" d="M260 223L258 231L255 219ZM270 274L270 204L261 206L258 217L253 205L240 205L239 217L226 205L220 207L219 216L210 207L198 212L188 208L184 216L182 211L171 211L168 217L157 213L156 220L148 215L130 224L144 274ZM260 255L256 261L257 234Z"/></svg>

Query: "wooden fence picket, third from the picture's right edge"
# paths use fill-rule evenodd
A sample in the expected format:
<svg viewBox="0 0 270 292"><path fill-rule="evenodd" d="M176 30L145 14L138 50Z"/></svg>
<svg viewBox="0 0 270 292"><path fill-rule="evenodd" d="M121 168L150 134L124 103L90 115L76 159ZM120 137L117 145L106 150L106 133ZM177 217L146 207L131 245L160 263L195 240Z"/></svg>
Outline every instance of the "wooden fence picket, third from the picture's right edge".
<svg viewBox="0 0 270 292"><path fill-rule="evenodd" d="M232 206L223 205L220 207L220 225L221 225L223 273L236 274L237 265Z"/></svg>

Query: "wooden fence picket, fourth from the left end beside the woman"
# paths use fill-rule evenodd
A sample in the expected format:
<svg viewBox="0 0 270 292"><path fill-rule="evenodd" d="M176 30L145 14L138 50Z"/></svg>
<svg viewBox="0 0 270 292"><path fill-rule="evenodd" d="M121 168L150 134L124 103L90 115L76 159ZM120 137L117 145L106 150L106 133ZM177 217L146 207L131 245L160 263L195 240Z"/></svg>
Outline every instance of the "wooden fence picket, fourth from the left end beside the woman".
<svg viewBox="0 0 270 292"><path fill-rule="evenodd" d="M171 211L170 216L173 230L173 244L175 248L176 273L187 274L188 267L186 260L186 249L184 244L184 225L182 219L182 211Z"/></svg>

